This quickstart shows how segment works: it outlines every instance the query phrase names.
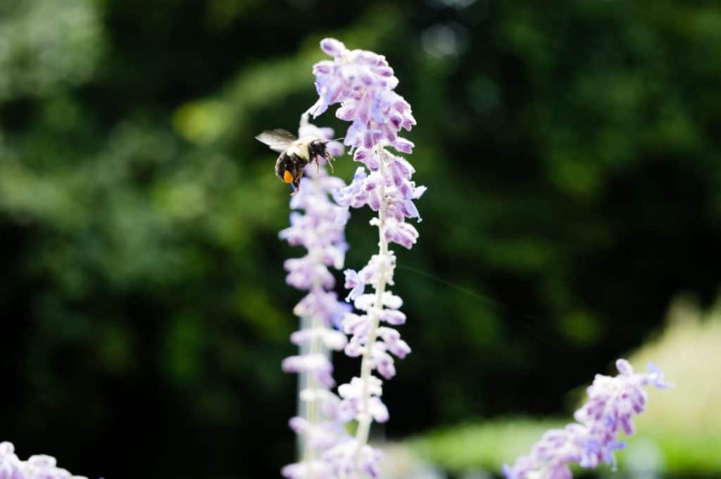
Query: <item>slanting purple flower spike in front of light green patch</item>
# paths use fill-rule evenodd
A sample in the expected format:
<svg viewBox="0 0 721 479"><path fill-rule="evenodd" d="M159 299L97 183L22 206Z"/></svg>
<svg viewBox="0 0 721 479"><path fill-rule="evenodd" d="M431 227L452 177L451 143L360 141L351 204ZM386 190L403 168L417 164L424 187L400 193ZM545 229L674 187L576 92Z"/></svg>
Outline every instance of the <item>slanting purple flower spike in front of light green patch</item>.
<svg viewBox="0 0 721 479"><path fill-rule="evenodd" d="M570 479L571 462L588 469L601 461L615 467L614 451L626 446L616 440L618 431L634 434L633 416L642 413L646 404L644 386L671 386L653 364L646 374L634 373L626 359L616 361L616 368L620 373L616 377L596 375L588 388L588 402L574 415L580 424L547 431L530 455L519 457L513 467L503 465L506 479Z"/></svg>

